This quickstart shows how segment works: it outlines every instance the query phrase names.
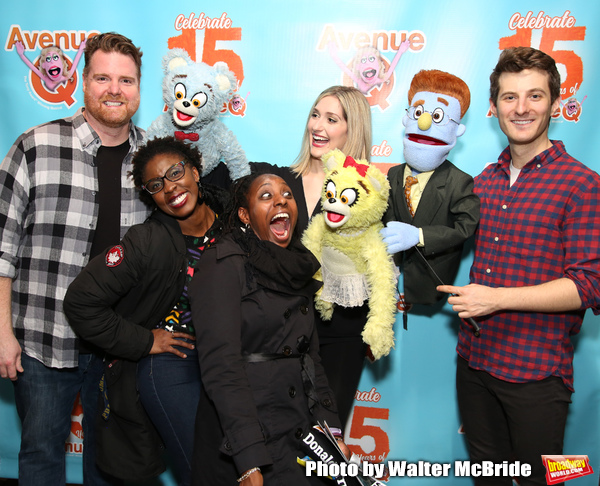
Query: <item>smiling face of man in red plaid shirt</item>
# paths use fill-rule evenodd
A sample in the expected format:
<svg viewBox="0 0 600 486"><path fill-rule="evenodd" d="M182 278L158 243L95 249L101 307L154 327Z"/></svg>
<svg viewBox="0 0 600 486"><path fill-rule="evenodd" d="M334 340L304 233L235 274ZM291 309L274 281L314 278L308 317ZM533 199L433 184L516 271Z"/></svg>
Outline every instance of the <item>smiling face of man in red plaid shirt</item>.
<svg viewBox="0 0 600 486"><path fill-rule="evenodd" d="M548 74L537 69L502 73L497 105L490 101L492 114L511 147L526 147L537 155L550 146L548 126L560 97L550 99Z"/></svg>

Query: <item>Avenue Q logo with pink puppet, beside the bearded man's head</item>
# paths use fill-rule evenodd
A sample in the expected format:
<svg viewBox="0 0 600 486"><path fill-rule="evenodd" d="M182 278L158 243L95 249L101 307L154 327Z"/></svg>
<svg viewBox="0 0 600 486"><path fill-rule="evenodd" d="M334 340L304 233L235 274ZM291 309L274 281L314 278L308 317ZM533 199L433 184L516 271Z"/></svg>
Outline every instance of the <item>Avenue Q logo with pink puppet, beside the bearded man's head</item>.
<svg viewBox="0 0 600 486"><path fill-rule="evenodd" d="M4 50L14 52L13 62L23 73L33 99L48 108L58 109L63 104L70 107L77 102L74 94L79 84L77 65L83 55L83 41L96 34L99 32L27 31L12 25Z"/></svg>

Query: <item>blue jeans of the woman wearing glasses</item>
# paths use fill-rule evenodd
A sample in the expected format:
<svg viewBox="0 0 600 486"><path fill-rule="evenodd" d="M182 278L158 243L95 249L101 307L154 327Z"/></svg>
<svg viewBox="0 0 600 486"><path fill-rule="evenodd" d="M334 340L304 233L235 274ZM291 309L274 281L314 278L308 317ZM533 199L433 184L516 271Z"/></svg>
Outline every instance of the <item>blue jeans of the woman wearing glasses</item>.
<svg viewBox="0 0 600 486"><path fill-rule="evenodd" d="M190 484L194 424L200 399L198 352L152 354L138 363L137 383L146 413L158 430L179 484Z"/></svg>

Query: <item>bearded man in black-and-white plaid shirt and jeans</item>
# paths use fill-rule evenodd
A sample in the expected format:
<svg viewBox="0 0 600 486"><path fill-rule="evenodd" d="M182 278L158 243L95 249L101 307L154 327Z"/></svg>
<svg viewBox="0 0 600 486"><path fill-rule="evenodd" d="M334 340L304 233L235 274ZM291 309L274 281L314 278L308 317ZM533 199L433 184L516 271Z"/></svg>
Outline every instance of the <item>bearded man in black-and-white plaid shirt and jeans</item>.
<svg viewBox="0 0 600 486"><path fill-rule="evenodd" d="M110 484L94 460L102 357L77 339L62 301L88 260L148 214L128 177L144 136L131 122L141 57L122 35L91 37L85 107L22 134L0 166L0 377L14 383L22 422L21 486L65 484L78 392L84 483Z"/></svg>

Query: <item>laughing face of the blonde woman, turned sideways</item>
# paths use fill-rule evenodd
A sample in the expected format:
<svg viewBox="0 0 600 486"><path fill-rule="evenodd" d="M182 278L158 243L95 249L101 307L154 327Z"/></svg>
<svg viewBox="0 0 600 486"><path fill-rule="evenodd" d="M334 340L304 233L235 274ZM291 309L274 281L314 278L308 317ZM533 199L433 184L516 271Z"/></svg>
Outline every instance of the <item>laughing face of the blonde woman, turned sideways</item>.
<svg viewBox="0 0 600 486"><path fill-rule="evenodd" d="M306 128L311 144L311 159L319 163L321 156L330 150L342 150L348 139L348 123L342 105L335 96L325 96L316 104Z"/></svg>

